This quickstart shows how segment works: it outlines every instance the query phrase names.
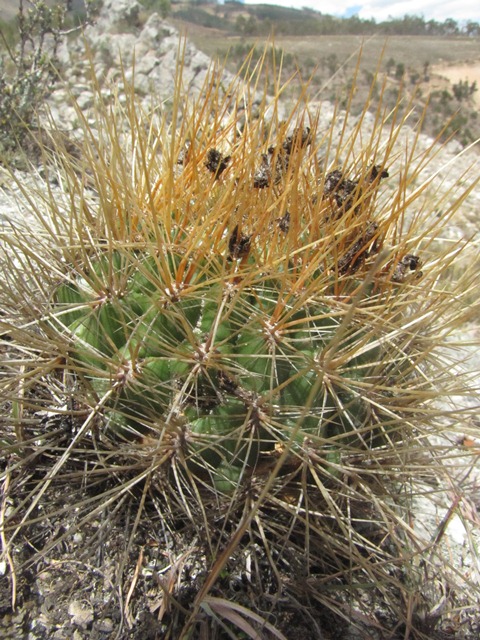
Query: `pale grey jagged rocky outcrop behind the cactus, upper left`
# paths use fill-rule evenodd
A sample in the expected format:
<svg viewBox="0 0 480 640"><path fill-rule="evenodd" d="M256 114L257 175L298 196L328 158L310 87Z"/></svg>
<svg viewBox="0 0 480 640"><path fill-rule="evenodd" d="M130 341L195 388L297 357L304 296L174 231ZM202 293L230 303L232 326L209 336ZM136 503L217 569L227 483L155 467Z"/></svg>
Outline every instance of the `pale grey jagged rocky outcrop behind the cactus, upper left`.
<svg viewBox="0 0 480 640"><path fill-rule="evenodd" d="M68 129L77 115L68 93L81 109L94 100L90 78L92 72L108 99L124 78L136 95L147 101L152 95L160 101L171 98L175 90L176 68L182 58L183 90L201 90L211 60L192 43L180 38L178 31L154 13L144 18L136 0L104 0L94 24L77 38L66 39L58 58L64 86L58 85L50 96L49 106L57 124Z"/></svg>

